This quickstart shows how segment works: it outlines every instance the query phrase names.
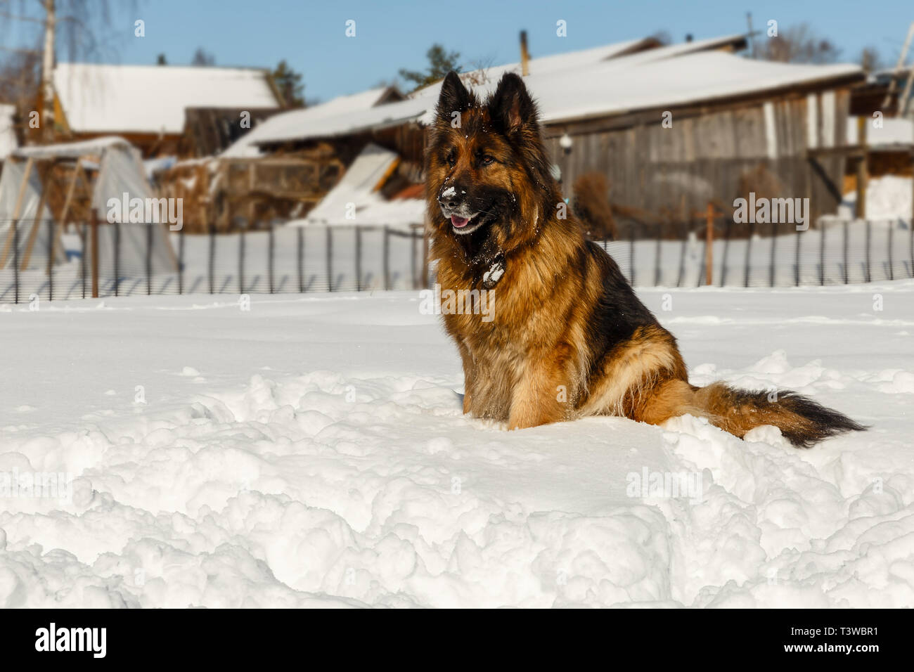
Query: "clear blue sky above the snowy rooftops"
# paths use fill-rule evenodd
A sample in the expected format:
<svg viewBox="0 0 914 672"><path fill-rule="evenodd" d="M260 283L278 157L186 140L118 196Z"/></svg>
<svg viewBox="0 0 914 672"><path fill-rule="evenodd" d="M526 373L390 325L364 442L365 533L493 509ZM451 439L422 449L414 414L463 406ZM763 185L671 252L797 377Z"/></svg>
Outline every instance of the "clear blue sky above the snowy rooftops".
<svg viewBox="0 0 914 672"><path fill-rule="evenodd" d="M420 69L434 42L460 51L467 63L518 59L518 31L526 28L533 56L596 47L664 30L674 41L739 33L746 12L755 27L777 19L781 28L807 22L842 48L842 60L876 47L894 65L914 0L112 0L107 44L123 63L186 64L197 47L217 65L272 67L286 59L304 75L305 95L329 100L392 80L400 68ZM133 7L133 8L132 8ZM145 37L133 37L133 20ZM345 37L345 21L356 37ZM568 37L556 36L556 21ZM61 59L66 59L60 54ZM911 59L909 59L911 60Z"/></svg>

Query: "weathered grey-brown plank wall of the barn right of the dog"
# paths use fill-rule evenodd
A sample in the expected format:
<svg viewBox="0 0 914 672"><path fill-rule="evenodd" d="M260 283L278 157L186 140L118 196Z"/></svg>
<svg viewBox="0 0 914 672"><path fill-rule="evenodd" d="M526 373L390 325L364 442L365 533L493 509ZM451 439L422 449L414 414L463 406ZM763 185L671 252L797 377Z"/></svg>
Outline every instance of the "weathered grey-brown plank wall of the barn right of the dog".
<svg viewBox="0 0 914 672"><path fill-rule="evenodd" d="M735 198L810 197L813 216L834 212L844 159L810 167L807 147L845 144L846 89L792 93L780 98L723 102L609 117L545 129L547 150L562 170L565 195L583 173L610 180L613 203L664 216L703 211L708 200L732 208ZM562 133L573 144L565 154ZM831 183L831 184L829 184Z"/></svg>

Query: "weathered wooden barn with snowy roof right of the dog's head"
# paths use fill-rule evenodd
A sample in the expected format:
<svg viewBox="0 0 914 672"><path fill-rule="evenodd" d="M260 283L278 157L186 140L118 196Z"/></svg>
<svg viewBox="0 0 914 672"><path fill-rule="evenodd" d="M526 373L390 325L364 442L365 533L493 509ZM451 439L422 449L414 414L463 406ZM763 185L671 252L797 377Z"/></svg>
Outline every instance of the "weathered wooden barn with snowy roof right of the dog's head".
<svg viewBox="0 0 914 672"><path fill-rule="evenodd" d="M613 209L644 223L691 219L708 201L729 214L749 192L809 197L813 219L834 212L845 172L834 150L860 69L663 51L530 78L567 192L596 171Z"/></svg>

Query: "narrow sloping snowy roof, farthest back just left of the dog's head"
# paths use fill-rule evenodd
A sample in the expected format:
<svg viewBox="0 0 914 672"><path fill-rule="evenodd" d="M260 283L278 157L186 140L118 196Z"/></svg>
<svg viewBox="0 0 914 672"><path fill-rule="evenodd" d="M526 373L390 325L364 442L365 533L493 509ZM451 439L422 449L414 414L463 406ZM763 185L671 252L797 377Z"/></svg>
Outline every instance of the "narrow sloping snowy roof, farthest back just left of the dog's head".
<svg viewBox="0 0 914 672"><path fill-rule="evenodd" d="M231 144L220 156L227 158L251 158L260 155L259 143L282 142L298 138L301 133L316 131L332 135L334 120L347 114L365 112L378 107L387 108L387 103L378 105L388 97L390 87L380 87L361 91L348 96L339 96L333 100L306 107L303 110L291 110L275 114L245 133L239 140ZM330 131L328 133L328 131Z"/></svg>

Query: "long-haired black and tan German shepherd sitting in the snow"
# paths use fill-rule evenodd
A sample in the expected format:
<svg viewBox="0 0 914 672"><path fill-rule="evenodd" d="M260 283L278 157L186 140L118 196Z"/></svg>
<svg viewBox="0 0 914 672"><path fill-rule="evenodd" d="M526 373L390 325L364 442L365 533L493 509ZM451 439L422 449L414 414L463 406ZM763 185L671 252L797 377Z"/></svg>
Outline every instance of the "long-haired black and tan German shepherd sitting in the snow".
<svg viewBox="0 0 914 672"><path fill-rule="evenodd" d="M865 429L792 391L689 384L675 338L565 216L520 77L506 74L481 101L451 72L429 133L430 261L442 295L494 300L488 321L442 306L462 357L464 413L508 429L589 415L660 424L691 413L739 437L771 424L802 447Z"/></svg>

